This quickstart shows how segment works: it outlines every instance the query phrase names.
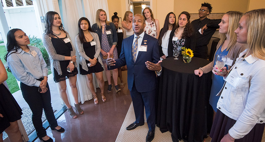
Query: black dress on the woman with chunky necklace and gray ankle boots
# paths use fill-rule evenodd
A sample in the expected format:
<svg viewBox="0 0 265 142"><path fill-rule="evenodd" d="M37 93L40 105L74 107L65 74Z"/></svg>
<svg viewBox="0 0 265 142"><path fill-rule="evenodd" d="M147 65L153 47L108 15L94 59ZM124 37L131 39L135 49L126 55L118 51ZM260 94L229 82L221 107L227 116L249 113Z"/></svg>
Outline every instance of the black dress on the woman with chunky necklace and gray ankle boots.
<svg viewBox="0 0 265 142"><path fill-rule="evenodd" d="M65 37L67 38L67 37ZM71 51L73 51L73 47L70 42L64 43L63 39L65 38L51 38L51 43L56 51L56 54L59 55L64 55L64 56L71 56ZM68 72L67 71L67 66L69 65L70 60L66 61L59 61L60 62L60 67L62 70L62 75L58 75L58 72L54 68L54 81L55 83L63 81L68 79L71 76L75 76L78 74L78 70L75 67L74 71Z"/></svg>

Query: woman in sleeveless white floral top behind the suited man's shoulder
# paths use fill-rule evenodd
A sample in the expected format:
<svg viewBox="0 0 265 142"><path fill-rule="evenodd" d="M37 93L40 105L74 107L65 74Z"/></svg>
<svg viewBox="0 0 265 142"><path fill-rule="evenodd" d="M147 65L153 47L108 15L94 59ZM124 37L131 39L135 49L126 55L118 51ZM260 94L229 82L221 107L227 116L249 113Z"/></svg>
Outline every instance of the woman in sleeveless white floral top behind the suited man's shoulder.
<svg viewBox="0 0 265 142"><path fill-rule="evenodd" d="M158 39L160 30L159 21L154 18L152 10L149 7L145 7L143 16L145 17L145 33Z"/></svg>

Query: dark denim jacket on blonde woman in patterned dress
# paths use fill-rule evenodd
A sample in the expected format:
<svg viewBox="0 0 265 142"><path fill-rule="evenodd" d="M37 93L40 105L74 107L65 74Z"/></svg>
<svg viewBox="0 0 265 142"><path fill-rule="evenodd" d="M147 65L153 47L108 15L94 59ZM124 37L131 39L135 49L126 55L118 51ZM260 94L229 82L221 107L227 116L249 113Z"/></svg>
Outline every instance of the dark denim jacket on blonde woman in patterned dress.
<svg viewBox="0 0 265 142"><path fill-rule="evenodd" d="M109 23L110 25L106 24L106 31L110 30L111 34L107 34L108 38L108 43L109 46L112 47L112 45L117 45L118 42L118 36L116 32L116 28L112 22ZM92 25L92 30L98 34L99 39L100 39L100 44L101 44L101 39L102 39L102 27L99 28L98 25L95 23Z"/></svg>

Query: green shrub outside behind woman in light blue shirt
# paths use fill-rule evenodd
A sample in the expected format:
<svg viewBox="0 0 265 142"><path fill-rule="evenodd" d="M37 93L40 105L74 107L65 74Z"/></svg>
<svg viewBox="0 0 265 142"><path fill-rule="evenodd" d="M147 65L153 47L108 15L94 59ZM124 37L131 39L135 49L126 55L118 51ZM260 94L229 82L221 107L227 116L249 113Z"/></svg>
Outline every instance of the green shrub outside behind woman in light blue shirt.
<svg viewBox="0 0 265 142"><path fill-rule="evenodd" d="M38 39L34 35L32 37L29 35L29 39L30 39L30 42L31 42L29 45L38 47L39 50L41 51L42 56L43 56L43 58L44 58L44 60L45 60L45 62L47 64L47 68L50 71L51 70L50 69L51 68L50 67L51 64L50 64L49 55L48 55L45 47L43 46L42 40L41 39Z"/></svg>

